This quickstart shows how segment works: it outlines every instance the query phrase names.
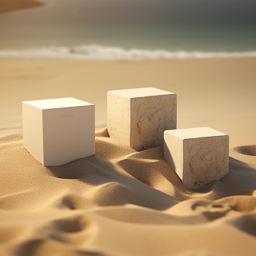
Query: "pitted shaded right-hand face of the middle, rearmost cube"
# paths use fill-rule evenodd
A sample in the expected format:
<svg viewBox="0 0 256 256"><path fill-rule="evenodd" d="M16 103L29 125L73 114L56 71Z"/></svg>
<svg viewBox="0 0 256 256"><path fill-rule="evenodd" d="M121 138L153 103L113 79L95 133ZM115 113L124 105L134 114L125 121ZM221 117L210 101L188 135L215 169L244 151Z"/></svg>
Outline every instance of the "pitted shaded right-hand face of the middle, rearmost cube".
<svg viewBox="0 0 256 256"><path fill-rule="evenodd" d="M177 95L131 99L130 146L137 151L164 145L164 131L176 129Z"/></svg>

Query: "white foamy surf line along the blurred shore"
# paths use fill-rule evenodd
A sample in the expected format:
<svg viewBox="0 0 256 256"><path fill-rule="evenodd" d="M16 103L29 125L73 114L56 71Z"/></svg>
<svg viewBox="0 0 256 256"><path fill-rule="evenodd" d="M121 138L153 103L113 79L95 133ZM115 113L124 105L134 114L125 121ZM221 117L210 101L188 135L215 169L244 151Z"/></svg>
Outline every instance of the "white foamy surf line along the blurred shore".
<svg viewBox="0 0 256 256"><path fill-rule="evenodd" d="M250 52L200 52L167 51L162 49L123 49L100 45L76 47L44 47L38 49L0 50L0 58L65 58L81 60L159 60L191 58L239 58L256 57Z"/></svg>

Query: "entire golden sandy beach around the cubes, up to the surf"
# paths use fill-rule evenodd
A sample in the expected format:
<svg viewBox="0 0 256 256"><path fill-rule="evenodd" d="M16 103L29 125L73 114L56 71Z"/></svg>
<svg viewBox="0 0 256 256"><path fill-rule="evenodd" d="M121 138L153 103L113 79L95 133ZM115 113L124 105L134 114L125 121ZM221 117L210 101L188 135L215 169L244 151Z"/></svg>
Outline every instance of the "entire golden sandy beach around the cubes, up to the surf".
<svg viewBox="0 0 256 256"><path fill-rule="evenodd" d="M254 256L256 58L0 61L0 252L19 256ZM108 90L177 94L177 128L229 135L229 174L182 185L163 148L108 137ZM22 143L21 101L74 97L96 106L96 154L42 166Z"/></svg>

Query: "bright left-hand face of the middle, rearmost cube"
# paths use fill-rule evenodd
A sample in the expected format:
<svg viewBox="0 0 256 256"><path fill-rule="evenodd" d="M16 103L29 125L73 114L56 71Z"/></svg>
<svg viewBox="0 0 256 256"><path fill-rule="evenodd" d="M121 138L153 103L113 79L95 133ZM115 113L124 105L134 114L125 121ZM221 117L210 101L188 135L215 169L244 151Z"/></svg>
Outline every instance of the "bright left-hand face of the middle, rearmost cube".
<svg viewBox="0 0 256 256"><path fill-rule="evenodd" d="M130 146L130 99L113 92L107 97L108 134Z"/></svg>

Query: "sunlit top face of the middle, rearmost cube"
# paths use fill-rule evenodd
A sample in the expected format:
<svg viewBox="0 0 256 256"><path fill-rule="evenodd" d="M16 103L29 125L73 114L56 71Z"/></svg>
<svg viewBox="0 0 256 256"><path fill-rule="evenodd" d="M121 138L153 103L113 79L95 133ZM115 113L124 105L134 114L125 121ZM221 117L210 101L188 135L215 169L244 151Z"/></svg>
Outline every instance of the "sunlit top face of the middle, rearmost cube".
<svg viewBox="0 0 256 256"><path fill-rule="evenodd" d="M157 88L146 87L146 88L134 88L134 89L109 91L108 95L111 95L111 94L118 94L118 96L121 98L132 99L132 98L140 98L140 97L170 95L175 93L167 92Z"/></svg>

